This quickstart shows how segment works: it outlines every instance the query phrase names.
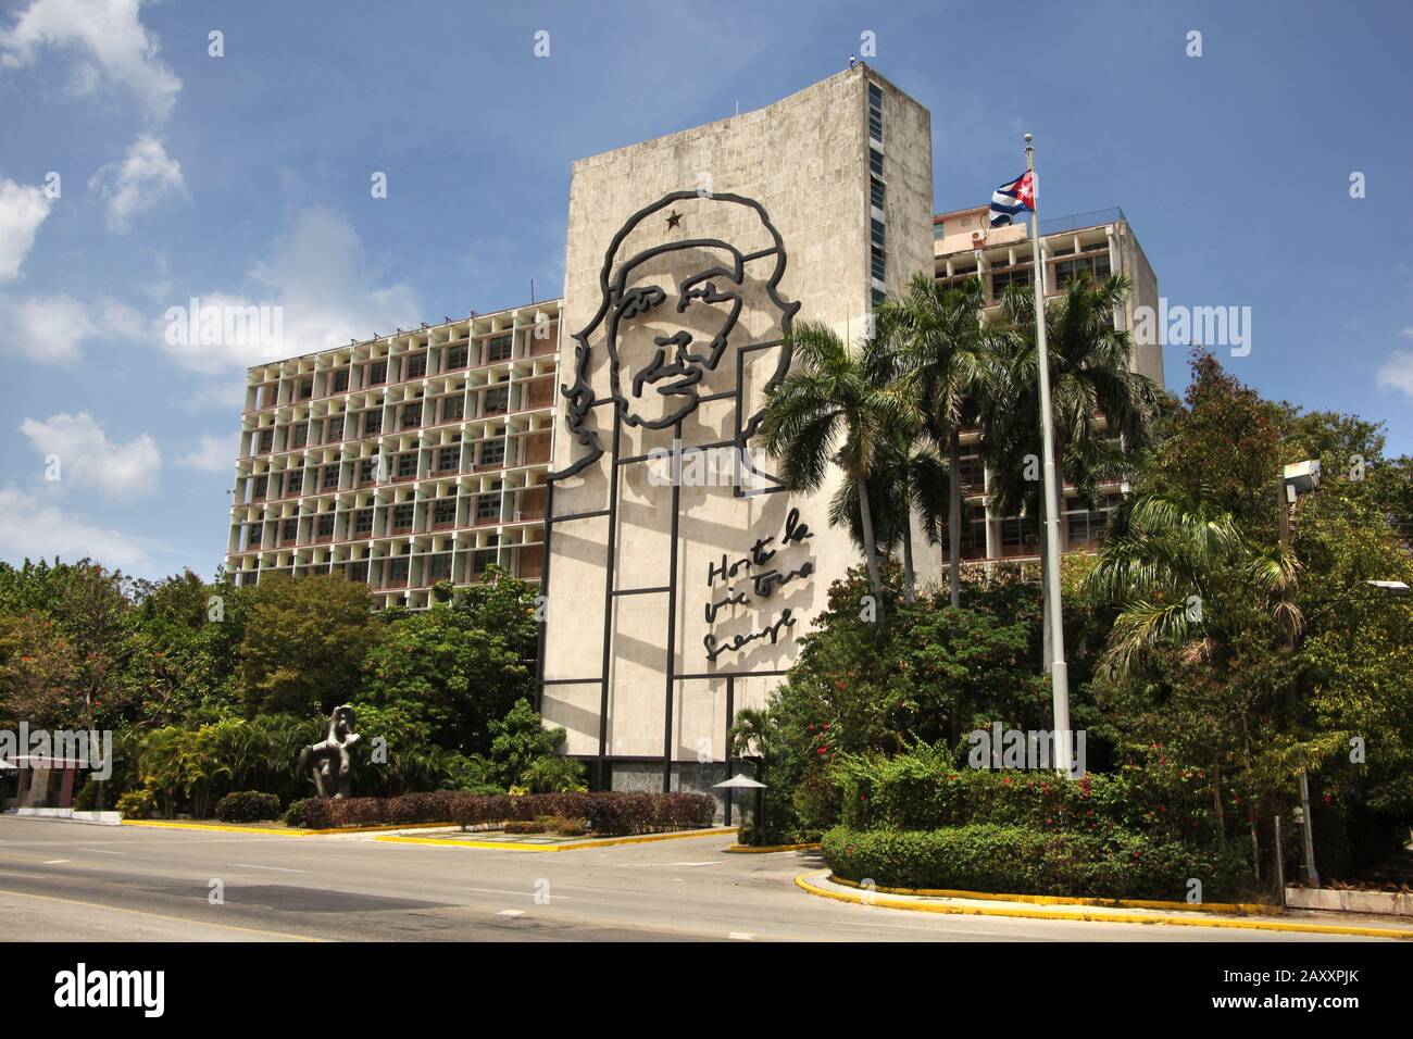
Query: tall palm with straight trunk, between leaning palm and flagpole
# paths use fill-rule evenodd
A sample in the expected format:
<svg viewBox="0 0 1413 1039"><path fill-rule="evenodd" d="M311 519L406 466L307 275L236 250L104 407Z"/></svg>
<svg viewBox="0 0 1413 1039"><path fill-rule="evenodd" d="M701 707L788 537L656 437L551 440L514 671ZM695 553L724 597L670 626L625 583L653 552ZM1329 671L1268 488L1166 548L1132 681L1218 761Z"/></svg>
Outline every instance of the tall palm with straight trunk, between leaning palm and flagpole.
<svg viewBox="0 0 1413 1039"><path fill-rule="evenodd" d="M883 338L897 349L885 353L885 377L907 373L916 380L926 431L947 452L947 544L951 602L961 605L962 481L961 435L992 369L993 344L982 324L981 280L942 286L920 271L900 300L879 307Z"/></svg>

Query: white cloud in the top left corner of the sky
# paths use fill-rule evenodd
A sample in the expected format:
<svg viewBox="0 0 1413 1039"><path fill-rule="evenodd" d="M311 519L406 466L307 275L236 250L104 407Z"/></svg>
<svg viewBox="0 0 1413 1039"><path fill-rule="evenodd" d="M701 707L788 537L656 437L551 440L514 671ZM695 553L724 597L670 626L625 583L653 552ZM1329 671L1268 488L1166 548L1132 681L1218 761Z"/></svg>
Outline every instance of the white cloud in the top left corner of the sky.
<svg viewBox="0 0 1413 1039"><path fill-rule="evenodd" d="M82 52L71 93L92 93L107 81L127 89L155 120L171 115L181 79L158 57L161 44L138 18L143 0L32 0L0 30L0 68L41 61L47 47Z"/></svg>

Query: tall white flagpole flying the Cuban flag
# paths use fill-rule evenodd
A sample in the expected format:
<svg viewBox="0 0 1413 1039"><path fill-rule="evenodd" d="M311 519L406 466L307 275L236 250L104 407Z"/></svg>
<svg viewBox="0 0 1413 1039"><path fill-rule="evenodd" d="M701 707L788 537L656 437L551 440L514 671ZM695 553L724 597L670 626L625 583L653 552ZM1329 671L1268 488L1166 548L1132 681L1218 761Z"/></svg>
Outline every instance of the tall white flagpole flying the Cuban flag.
<svg viewBox="0 0 1413 1039"><path fill-rule="evenodd" d="M1050 612L1050 638L1054 663L1050 667L1054 697L1056 769L1070 775L1072 758L1070 734L1070 670L1064 660L1064 611L1060 602L1060 488L1056 478L1056 444L1050 414L1050 352L1046 345L1046 267L1040 259L1040 191L1036 181L1036 148L1026 134L1026 168L1030 172L1030 247L1034 257L1036 286L1036 366L1040 369L1040 437L1044 451L1046 495L1046 609Z"/></svg>

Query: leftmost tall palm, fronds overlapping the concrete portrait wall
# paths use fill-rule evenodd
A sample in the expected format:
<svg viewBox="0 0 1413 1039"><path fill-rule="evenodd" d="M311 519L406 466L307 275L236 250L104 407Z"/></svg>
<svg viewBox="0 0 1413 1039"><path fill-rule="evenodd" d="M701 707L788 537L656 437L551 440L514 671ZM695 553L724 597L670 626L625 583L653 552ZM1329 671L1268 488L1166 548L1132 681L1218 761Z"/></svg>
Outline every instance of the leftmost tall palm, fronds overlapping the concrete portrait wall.
<svg viewBox="0 0 1413 1039"><path fill-rule="evenodd" d="M910 410L906 380L885 385L886 346L880 336L866 336L849 349L828 325L800 322L786 338L793 351L790 375L767 396L760 425L766 450L780 461L791 491L818 491L838 465L858 492L859 526L869 587L882 602L869 476L890 431L906 428Z"/></svg>

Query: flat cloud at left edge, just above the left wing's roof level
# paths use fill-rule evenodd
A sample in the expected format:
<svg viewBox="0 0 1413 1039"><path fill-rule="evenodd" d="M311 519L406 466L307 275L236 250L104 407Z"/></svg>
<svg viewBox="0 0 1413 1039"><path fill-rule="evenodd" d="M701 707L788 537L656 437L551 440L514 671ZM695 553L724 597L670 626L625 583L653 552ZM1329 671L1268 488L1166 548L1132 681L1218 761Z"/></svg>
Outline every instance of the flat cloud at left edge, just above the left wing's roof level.
<svg viewBox="0 0 1413 1039"><path fill-rule="evenodd" d="M137 341L150 335L131 307L103 297L96 305L72 295L0 295L0 351L41 365L72 365L89 339Z"/></svg>

